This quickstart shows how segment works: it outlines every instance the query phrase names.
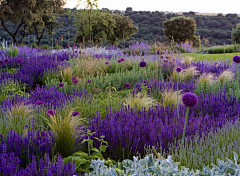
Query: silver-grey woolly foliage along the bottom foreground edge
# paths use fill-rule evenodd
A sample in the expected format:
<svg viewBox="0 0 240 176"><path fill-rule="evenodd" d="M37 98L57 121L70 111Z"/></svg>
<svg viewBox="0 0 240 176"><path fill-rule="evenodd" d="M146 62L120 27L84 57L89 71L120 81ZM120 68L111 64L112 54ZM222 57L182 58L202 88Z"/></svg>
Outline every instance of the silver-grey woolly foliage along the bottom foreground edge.
<svg viewBox="0 0 240 176"><path fill-rule="evenodd" d="M93 160L93 171L86 176L240 176L238 155L233 154L234 161L218 160L216 165L212 164L211 168L204 166L201 171L178 168L179 163L173 162L171 156L168 159L154 159L153 155L149 155L140 160L134 157L133 161L124 160L113 167L105 166L104 160Z"/></svg>

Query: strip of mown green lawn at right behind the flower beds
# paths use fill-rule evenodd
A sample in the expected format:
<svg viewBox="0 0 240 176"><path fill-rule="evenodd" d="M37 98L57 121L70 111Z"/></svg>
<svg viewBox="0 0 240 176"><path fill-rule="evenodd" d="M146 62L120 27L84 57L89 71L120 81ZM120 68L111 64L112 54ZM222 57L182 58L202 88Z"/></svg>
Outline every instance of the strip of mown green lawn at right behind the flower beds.
<svg viewBox="0 0 240 176"><path fill-rule="evenodd" d="M191 56L194 60L232 60L235 55L240 53L225 53L225 54L201 54L201 53L183 53L184 56Z"/></svg>

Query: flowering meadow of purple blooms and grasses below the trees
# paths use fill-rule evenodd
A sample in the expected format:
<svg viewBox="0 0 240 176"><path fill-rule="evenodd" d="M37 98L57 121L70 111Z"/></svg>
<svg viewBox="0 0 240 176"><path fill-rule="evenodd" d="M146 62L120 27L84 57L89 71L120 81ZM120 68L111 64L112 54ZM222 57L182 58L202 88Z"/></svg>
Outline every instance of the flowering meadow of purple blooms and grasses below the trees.
<svg viewBox="0 0 240 176"><path fill-rule="evenodd" d="M239 55L2 43L0 175L240 175Z"/></svg>

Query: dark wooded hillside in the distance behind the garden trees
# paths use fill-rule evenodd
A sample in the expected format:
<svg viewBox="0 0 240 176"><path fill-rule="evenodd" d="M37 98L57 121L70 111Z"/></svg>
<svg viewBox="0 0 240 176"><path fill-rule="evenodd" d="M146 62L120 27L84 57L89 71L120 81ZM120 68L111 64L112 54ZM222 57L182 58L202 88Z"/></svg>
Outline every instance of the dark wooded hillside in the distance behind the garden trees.
<svg viewBox="0 0 240 176"><path fill-rule="evenodd" d="M108 9L105 9L108 10ZM132 11L131 8L127 8L126 11L111 11L112 13L123 13L129 16L138 26L139 31L136 35L132 36L125 42L126 46L135 43L136 41L154 42L161 41L166 42L167 38L164 36L164 28L162 26L163 21L180 16L190 16L196 20L197 23L197 35L201 36L201 39L209 41L209 45L223 45L231 44L231 31L235 28L237 23L240 23L240 17L237 14L198 14L195 12L188 13L170 13L170 12L149 12L149 11ZM54 30L54 39L59 40L61 35L64 36L64 46L70 41L72 43L73 37L76 33L76 28L73 24L73 19L69 19L67 15L59 18L62 22L62 26ZM13 29L14 25L9 26ZM24 44L33 43L34 35L27 36ZM11 42L11 37L0 27L0 37L5 38ZM42 44L51 45L52 37L45 34ZM60 43L61 44L61 43ZM123 45L123 43L121 44Z"/></svg>

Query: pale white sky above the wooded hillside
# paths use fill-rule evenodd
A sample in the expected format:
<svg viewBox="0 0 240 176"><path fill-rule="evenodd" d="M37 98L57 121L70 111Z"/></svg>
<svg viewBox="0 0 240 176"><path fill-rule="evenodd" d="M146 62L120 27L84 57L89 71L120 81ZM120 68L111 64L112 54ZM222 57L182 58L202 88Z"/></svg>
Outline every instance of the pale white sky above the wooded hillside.
<svg viewBox="0 0 240 176"><path fill-rule="evenodd" d="M74 8L77 0L67 0L67 8ZM80 6L84 7L84 6ZM240 0L99 0L98 7L110 10L199 12L199 13L238 13Z"/></svg>

